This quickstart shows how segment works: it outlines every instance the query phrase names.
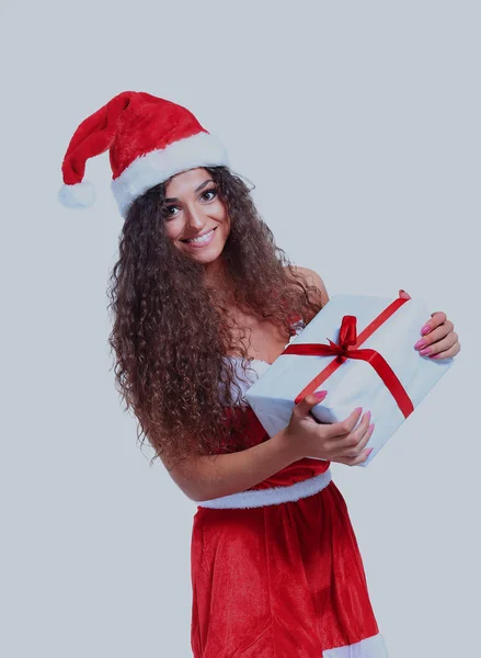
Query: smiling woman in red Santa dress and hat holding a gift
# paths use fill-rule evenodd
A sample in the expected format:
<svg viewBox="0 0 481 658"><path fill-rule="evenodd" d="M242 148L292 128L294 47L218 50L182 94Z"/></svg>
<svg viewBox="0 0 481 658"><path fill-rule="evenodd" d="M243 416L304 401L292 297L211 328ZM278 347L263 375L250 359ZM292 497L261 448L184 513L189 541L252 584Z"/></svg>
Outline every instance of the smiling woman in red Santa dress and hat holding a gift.
<svg viewBox="0 0 481 658"><path fill-rule="evenodd" d="M184 107L123 92L88 117L64 159L64 203L92 202L85 160L107 149L125 218L110 342L154 458L197 502L194 657L387 656L329 468L366 458L369 410L320 424L309 411L321 392L268 438L243 397L328 302L321 277L275 246L224 147ZM430 356L459 351L445 314L423 329Z"/></svg>

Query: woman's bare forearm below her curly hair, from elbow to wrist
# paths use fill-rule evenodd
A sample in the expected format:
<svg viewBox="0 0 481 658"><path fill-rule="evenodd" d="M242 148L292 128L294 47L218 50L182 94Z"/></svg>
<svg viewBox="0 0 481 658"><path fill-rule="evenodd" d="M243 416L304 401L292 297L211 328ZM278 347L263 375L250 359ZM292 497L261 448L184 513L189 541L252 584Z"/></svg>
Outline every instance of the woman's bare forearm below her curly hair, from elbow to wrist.
<svg viewBox="0 0 481 658"><path fill-rule="evenodd" d="M285 429L259 445L218 455L193 455L177 463L161 455L174 483L194 501L244 491L298 457Z"/></svg>

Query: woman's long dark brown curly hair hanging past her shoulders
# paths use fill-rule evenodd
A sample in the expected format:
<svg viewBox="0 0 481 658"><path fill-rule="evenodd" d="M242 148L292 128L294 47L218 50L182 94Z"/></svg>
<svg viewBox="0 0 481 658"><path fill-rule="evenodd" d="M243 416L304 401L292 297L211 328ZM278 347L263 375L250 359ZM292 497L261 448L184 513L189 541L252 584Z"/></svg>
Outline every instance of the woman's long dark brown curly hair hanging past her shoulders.
<svg viewBox="0 0 481 658"><path fill-rule="evenodd" d="M276 247L252 201L254 186L228 167L204 169L230 218L219 258L236 303L288 337L294 319L308 324L322 307L319 290ZM226 355L239 354L244 373L250 367L245 327L229 319L225 295L206 285L203 263L165 236L167 183L131 204L107 290L115 386L138 420L137 439L153 447L152 462L242 449L248 405ZM241 422L226 422L240 411Z"/></svg>

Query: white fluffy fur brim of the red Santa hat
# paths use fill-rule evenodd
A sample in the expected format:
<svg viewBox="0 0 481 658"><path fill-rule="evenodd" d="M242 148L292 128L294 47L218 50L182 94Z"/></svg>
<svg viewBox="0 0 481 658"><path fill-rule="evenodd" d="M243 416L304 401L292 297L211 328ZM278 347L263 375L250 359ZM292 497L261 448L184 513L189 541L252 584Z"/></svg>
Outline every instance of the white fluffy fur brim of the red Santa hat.
<svg viewBox="0 0 481 658"><path fill-rule="evenodd" d="M171 175L196 167L219 164L228 166L229 157L218 137L210 133L197 133L139 156L111 183L121 215L127 215L137 196Z"/></svg>

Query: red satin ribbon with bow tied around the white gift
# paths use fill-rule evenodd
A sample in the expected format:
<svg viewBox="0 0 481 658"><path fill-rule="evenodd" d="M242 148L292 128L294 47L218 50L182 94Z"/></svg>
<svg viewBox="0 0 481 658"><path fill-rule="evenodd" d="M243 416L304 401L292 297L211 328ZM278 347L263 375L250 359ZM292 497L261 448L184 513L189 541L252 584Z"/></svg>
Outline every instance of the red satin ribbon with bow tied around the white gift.
<svg viewBox="0 0 481 658"><path fill-rule="evenodd" d="M323 343L290 344L283 354L299 354L308 356L336 356L324 367L309 384L299 393L295 402L299 402L304 397L313 393L325 379L332 375L346 359L360 359L370 363L377 374L381 377L390 393L392 394L398 407L401 409L404 418L414 411L414 406L398 379L394 371L379 352L375 350L359 350L362 345L388 318L390 318L409 299L399 298L392 302L382 313L380 313L357 336L357 318L355 316L344 316L339 332L339 344L329 340L329 345Z"/></svg>

